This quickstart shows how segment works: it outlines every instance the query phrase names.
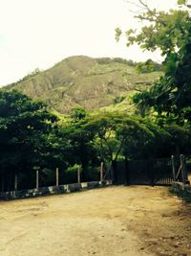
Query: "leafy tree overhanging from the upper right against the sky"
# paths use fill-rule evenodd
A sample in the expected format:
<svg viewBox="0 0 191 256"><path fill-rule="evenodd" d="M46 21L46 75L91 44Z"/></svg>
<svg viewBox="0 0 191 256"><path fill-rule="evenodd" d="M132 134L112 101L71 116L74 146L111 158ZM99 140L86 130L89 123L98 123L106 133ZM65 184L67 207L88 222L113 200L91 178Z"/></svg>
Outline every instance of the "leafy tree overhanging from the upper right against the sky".
<svg viewBox="0 0 191 256"><path fill-rule="evenodd" d="M148 92L134 96L138 105L153 107L159 116L178 124L191 121L191 18L188 1L180 0L180 10L158 12L138 1L145 12L137 18L144 24L140 31L126 32L127 45L138 43L142 49L160 49L164 75ZM117 29L117 38L121 31Z"/></svg>

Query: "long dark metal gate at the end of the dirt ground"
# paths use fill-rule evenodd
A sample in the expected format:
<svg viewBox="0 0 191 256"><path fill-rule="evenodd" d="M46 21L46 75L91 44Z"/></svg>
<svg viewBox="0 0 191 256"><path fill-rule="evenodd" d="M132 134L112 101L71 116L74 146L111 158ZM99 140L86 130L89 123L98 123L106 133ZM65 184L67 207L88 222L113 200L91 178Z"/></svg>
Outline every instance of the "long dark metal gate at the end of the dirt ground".
<svg viewBox="0 0 191 256"><path fill-rule="evenodd" d="M171 185L188 182L185 157L124 160L113 162L114 184Z"/></svg>

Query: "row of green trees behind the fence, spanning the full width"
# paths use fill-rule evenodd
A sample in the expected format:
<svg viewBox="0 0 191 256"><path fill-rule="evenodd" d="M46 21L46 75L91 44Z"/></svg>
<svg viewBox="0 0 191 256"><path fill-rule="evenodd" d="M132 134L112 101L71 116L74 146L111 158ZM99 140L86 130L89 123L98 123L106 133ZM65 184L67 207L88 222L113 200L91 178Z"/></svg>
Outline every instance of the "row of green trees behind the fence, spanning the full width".
<svg viewBox="0 0 191 256"><path fill-rule="evenodd" d="M53 170L60 182L72 182L77 166L82 179L98 178L100 162L107 168L113 160L166 157L190 151L190 126L153 122L125 112L87 113L75 108L59 122L42 102L17 91L0 91L0 184L10 190L18 175L20 188L35 183L53 185ZM76 166L77 164L77 166ZM22 187L23 186L23 187Z"/></svg>

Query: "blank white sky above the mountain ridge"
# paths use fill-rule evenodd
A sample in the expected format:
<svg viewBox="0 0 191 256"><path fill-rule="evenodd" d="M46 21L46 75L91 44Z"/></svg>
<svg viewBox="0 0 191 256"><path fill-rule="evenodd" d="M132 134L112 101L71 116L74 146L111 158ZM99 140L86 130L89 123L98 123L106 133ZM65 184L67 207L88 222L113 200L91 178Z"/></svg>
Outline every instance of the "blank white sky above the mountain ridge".
<svg viewBox="0 0 191 256"><path fill-rule="evenodd" d="M169 9L176 0L147 2ZM138 26L130 9L124 0L0 0L0 86L74 55L151 58L115 40L115 28Z"/></svg>

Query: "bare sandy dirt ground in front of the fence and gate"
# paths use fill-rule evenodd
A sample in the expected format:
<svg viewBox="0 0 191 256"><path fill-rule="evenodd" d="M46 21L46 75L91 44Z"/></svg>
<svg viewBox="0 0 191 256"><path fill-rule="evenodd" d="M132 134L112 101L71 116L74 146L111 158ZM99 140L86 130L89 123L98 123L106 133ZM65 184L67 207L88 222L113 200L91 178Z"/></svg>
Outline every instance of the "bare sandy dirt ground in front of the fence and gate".
<svg viewBox="0 0 191 256"><path fill-rule="evenodd" d="M0 202L0 256L191 255L191 205L165 187Z"/></svg>

